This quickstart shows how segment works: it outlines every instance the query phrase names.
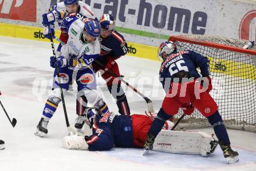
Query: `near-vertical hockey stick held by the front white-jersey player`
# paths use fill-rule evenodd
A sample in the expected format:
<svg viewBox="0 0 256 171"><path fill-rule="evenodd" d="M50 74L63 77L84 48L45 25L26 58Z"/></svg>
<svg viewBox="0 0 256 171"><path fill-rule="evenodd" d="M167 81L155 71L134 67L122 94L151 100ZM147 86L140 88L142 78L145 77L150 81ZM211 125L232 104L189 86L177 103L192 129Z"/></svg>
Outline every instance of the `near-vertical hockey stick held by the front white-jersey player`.
<svg viewBox="0 0 256 171"><path fill-rule="evenodd" d="M48 30L49 30L49 36L50 36L50 40L51 40L51 44L52 44L52 54L54 54L54 58L56 59L56 53L55 53L55 48L54 48L54 40L52 39L52 32L51 32L51 26L48 26ZM66 126L67 126L67 130L71 133L76 133L71 126L69 125L69 118L67 118L67 111L66 111L66 104L65 104L65 100L64 100L64 95L63 95L63 90L61 87L61 77L59 76L59 67L56 66L56 72L57 72L57 77L58 77L58 83L59 83L59 88L61 89L61 101L62 101L62 105L63 105L63 110L64 110L64 115L65 115L65 120L66 120Z"/></svg>

